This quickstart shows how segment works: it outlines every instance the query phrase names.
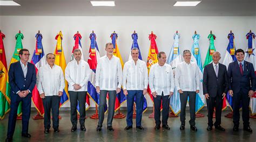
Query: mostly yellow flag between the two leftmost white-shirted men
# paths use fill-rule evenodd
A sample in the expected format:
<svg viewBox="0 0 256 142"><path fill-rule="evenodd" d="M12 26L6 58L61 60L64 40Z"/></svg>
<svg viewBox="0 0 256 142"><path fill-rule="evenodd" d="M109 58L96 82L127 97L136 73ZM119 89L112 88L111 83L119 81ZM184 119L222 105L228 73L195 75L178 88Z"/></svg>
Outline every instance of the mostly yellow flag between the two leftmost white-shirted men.
<svg viewBox="0 0 256 142"><path fill-rule="evenodd" d="M58 65L62 68L62 72L65 76L66 60L62 47L62 31L59 31L55 39L57 40L56 49L55 49L55 65ZM68 82L65 80L65 88L63 89L63 95L60 97L60 105L63 106L66 102L69 101L69 92L68 92Z"/></svg>

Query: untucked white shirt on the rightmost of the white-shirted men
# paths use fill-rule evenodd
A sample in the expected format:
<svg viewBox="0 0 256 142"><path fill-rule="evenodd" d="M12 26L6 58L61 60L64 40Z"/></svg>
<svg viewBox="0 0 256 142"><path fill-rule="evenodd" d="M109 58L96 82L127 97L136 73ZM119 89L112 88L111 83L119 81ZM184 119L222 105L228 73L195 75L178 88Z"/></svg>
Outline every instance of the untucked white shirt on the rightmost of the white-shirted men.
<svg viewBox="0 0 256 142"><path fill-rule="evenodd" d="M200 90L200 77L197 63L185 61L179 63L175 70L175 85L177 90L196 91Z"/></svg>

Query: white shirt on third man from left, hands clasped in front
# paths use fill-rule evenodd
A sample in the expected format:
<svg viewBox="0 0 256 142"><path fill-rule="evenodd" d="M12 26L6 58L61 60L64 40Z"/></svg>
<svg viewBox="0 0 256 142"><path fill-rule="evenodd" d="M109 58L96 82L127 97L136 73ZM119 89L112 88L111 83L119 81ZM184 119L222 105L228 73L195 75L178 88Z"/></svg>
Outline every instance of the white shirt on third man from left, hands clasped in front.
<svg viewBox="0 0 256 142"><path fill-rule="evenodd" d="M90 75L91 69L86 61L80 60L78 64L76 60L70 61L65 69L65 78L69 82L69 91L87 91ZM73 84L78 84L82 88L75 90Z"/></svg>

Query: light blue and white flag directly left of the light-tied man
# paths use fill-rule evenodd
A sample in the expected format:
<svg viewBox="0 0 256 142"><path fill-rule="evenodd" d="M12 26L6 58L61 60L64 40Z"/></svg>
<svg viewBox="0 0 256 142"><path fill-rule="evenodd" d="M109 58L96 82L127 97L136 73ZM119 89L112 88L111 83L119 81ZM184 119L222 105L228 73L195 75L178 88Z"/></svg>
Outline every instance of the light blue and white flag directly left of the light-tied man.
<svg viewBox="0 0 256 142"><path fill-rule="evenodd" d="M199 70L199 77L200 77L200 91L196 95L196 113L197 113L202 108L204 108L206 100L203 94L203 68L202 68L201 54L200 54L200 48L199 48L199 42L198 42L198 40L200 39L200 35L194 34L192 38L194 42L191 48L191 53L192 53L191 61L197 63L198 70Z"/></svg>

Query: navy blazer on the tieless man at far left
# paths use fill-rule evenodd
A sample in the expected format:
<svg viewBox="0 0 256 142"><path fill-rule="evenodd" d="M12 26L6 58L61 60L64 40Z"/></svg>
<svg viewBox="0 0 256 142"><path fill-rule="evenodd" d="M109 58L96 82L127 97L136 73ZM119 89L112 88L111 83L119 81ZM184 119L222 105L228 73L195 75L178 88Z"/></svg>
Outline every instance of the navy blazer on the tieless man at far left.
<svg viewBox="0 0 256 142"><path fill-rule="evenodd" d="M11 92L16 94L17 91L30 90L32 93L33 88L36 85L36 69L35 65L28 63L28 72L24 77L21 62L17 61L10 65L8 72L9 84L11 86Z"/></svg>

